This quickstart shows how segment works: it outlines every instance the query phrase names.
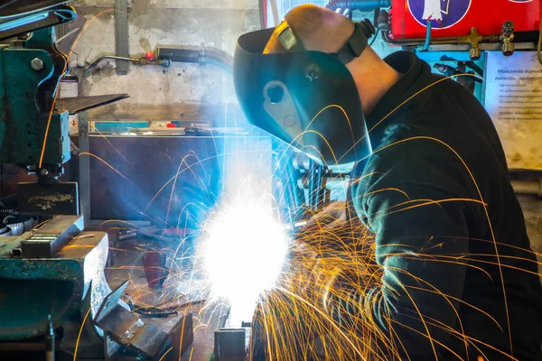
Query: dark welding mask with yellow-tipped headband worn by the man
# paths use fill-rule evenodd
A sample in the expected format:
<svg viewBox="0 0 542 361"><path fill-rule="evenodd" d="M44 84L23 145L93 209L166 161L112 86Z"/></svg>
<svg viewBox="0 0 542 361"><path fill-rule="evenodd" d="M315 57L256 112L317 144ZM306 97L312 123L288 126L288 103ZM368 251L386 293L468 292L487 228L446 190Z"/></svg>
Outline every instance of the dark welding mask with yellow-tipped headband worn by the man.
<svg viewBox="0 0 542 361"><path fill-rule="evenodd" d="M331 54L305 51L286 22L242 35L233 77L248 121L322 164L371 153L358 89L344 64L361 55L374 28L368 20L354 25L341 50ZM273 32L286 52L263 53Z"/></svg>

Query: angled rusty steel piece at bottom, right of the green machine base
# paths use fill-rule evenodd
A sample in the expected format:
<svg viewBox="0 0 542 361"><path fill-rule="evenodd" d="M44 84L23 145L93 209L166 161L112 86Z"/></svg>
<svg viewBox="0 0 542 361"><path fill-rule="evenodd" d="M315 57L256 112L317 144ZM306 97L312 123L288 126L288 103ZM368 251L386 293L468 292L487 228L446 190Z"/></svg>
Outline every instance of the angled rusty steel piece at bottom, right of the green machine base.
<svg viewBox="0 0 542 361"><path fill-rule="evenodd" d="M126 291L128 282L104 298L94 321L104 330L106 359L111 356L109 339L139 355L158 359L172 346L175 353L182 354L192 344L192 314L187 313L179 319L170 333L164 332L148 320L126 310L121 303L121 296Z"/></svg>

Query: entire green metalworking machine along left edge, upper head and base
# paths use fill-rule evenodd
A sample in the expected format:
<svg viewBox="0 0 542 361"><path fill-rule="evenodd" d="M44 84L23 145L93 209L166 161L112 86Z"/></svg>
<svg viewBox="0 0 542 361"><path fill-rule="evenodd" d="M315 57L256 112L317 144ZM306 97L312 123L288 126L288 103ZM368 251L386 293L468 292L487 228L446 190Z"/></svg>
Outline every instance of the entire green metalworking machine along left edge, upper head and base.
<svg viewBox="0 0 542 361"><path fill-rule="evenodd" d="M105 279L107 233L84 231L78 184L61 181L70 160L68 115L126 97L57 99L68 59L57 50L54 26L76 17L62 3L0 5L0 162L36 176L19 184L17 211L42 221L0 240L0 358L42 357L26 354L34 351L48 360L55 353L111 359L120 349L143 359L170 346L180 355L179 340L192 342L192 316L167 332L126 310L126 284L111 292Z"/></svg>

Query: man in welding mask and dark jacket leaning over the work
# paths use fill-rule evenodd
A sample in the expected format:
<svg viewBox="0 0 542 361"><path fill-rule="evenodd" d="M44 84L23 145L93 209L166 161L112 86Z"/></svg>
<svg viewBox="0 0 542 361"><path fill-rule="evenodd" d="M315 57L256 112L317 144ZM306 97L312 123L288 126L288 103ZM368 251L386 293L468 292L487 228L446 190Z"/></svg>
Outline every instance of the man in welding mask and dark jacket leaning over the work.
<svg viewBox="0 0 542 361"><path fill-rule="evenodd" d="M402 359L542 360L537 259L491 118L414 52L380 59L373 31L301 5L235 53L249 122L316 162L355 163L349 199L383 286L322 294L322 309L371 315Z"/></svg>

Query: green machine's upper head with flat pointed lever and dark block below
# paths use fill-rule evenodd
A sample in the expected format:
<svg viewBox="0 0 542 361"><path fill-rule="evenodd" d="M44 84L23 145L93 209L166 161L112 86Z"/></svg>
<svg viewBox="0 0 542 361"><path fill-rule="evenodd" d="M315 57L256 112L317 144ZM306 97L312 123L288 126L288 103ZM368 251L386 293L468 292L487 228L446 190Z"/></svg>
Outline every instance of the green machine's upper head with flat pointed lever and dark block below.
<svg viewBox="0 0 542 361"><path fill-rule="evenodd" d="M70 160L69 114L126 95L60 99L67 56L56 47L55 25L75 19L58 0L0 1L0 162L35 173L19 185L19 209L33 215L79 214L78 186L61 182Z"/></svg>

